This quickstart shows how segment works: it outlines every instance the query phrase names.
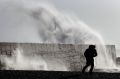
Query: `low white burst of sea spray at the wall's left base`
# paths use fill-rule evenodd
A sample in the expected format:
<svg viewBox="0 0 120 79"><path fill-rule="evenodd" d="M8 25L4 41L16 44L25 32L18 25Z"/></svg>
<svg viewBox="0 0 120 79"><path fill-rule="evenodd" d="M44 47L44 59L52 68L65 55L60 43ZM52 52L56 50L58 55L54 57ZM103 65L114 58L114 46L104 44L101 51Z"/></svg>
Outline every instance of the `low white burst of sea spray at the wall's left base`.
<svg viewBox="0 0 120 79"><path fill-rule="evenodd" d="M47 63L40 56L24 56L21 48L13 51L12 57L4 57L7 70L48 70Z"/></svg>

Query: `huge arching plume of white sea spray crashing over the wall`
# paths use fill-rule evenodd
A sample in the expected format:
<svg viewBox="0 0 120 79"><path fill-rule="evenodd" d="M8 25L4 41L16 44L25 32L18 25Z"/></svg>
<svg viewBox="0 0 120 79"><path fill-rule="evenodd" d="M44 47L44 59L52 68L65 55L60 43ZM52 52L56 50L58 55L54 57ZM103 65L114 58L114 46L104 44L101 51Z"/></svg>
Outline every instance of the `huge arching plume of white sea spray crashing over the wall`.
<svg viewBox="0 0 120 79"><path fill-rule="evenodd" d="M6 4L0 7L0 11L4 11L4 16L1 15L0 17L3 17L3 20L6 22L3 22L1 26L13 28L12 30L9 29L8 32L10 31L11 36L16 36L16 40L14 41L96 44L98 50L98 57L95 61L96 67L113 67L114 62L108 52L106 52L104 40L101 35L80 21L78 17L72 16L69 13L60 12L52 5L46 4L41 0L1 0L0 3ZM10 38L12 38L11 36ZM28 39L28 37L30 38ZM18 49L16 52L19 52ZM11 62L20 63L16 65L15 68L18 66L20 69L27 69L26 67L20 66L24 64L20 62L20 59L22 60L21 57L24 56L19 55L21 55L21 53L18 53L18 56L16 56L19 58L15 58L15 60L13 58ZM16 59L19 59L19 61ZM35 60L33 59L33 61ZM5 62L7 62L7 60ZM28 62L27 59L26 62ZM27 63L25 64L27 65ZM11 65L10 62L7 62L7 65Z"/></svg>

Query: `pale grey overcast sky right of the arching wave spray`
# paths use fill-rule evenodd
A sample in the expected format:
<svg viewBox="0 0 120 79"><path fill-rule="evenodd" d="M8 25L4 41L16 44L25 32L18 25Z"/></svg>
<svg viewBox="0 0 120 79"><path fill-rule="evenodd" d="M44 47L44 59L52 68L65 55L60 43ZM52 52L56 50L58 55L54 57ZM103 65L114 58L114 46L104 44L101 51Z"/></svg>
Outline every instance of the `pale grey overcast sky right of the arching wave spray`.
<svg viewBox="0 0 120 79"><path fill-rule="evenodd" d="M74 12L96 29L107 43L120 44L120 0L50 0L60 10Z"/></svg>

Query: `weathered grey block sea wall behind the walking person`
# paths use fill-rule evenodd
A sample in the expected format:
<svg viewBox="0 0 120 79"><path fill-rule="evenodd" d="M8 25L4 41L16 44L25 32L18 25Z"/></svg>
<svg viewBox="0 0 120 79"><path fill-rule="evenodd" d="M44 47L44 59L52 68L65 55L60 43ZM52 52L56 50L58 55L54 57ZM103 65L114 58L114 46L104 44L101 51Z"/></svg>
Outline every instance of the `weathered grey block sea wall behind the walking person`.
<svg viewBox="0 0 120 79"><path fill-rule="evenodd" d="M80 71L85 65L84 51L88 45L73 44L39 44L39 43L0 43L0 54L11 56L13 50L21 48L25 56L40 55L47 61L49 67L55 69L55 64L63 62L69 71ZM115 46L107 45L112 58L115 59ZM53 59L52 59L53 58ZM53 63L53 64L50 64ZM50 69L52 70L52 68Z"/></svg>

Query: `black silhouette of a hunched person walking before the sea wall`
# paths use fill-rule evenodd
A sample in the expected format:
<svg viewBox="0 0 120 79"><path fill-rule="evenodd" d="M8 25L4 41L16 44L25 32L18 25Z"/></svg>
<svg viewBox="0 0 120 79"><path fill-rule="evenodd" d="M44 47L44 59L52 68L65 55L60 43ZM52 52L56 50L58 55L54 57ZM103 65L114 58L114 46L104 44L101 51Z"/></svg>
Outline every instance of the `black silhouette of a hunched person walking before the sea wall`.
<svg viewBox="0 0 120 79"><path fill-rule="evenodd" d="M94 68L94 57L97 56L95 45L89 45L89 48L86 49L84 56L86 58L86 65L84 66L82 72L84 73L88 66L91 66L89 73L91 74Z"/></svg>

